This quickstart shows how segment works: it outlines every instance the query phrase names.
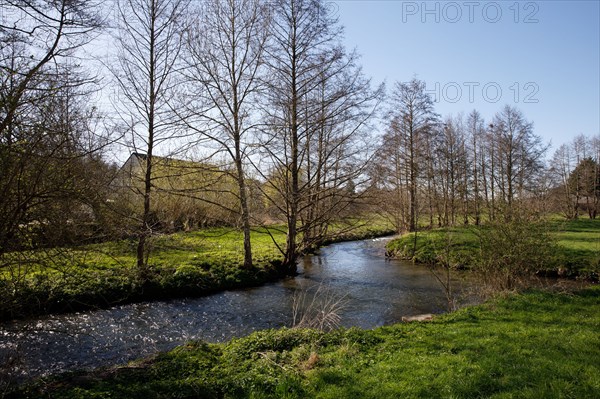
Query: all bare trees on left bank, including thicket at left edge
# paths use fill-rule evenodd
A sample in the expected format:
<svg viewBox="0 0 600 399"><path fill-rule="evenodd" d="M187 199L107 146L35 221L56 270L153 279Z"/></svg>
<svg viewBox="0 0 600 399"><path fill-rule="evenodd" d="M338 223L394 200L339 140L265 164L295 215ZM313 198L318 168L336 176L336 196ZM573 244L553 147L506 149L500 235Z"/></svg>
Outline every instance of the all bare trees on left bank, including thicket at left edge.
<svg viewBox="0 0 600 399"><path fill-rule="evenodd" d="M270 221L285 226L280 249L284 270L293 273L296 258L325 240L332 221L348 215L361 195L373 153L369 123L383 91L344 49L342 28L323 1L0 4L3 252L41 225L78 226L85 218L93 224L112 213L109 223L126 224L126 235L137 239L144 280L148 242L159 228L155 202L168 191L237 213L247 268L251 226L265 221L253 213L262 202ZM99 75L79 67L100 34L111 37L102 60L110 79L102 86ZM113 92L112 119L88 102L100 88ZM117 196L127 179L104 162L105 131L143 164L129 190L141 201ZM165 179L164 165L154 169L169 159L206 172L176 172L182 176L215 181ZM168 173L192 168L170 165ZM167 180L187 183L167 187Z"/></svg>

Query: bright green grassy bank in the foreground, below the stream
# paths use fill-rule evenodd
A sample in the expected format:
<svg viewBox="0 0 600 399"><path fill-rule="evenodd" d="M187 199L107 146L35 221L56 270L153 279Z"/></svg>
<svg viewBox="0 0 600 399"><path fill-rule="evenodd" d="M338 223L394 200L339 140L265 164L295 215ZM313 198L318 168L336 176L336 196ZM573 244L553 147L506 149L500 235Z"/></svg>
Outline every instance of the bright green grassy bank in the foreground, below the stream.
<svg viewBox="0 0 600 399"><path fill-rule="evenodd" d="M532 291L373 331L269 330L8 398L597 398L600 287Z"/></svg>

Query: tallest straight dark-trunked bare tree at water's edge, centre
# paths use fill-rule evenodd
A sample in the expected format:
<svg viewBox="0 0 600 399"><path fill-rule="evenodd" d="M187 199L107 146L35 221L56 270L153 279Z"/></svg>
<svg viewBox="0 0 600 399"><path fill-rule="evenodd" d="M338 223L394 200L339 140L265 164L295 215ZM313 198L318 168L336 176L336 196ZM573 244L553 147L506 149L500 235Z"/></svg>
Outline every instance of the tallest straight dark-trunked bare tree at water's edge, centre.
<svg viewBox="0 0 600 399"><path fill-rule="evenodd" d="M337 20L320 0L276 0L267 48L269 128L261 149L267 164L259 167L267 181L265 195L284 216L287 225L283 268L295 273L301 210L303 160L307 135L316 123L302 106L326 74L342 58ZM263 164L264 165L264 164ZM266 171L265 171L266 168ZM276 194L275 194L276 193ZM283 199L283 202L279 202Z"/></svg>

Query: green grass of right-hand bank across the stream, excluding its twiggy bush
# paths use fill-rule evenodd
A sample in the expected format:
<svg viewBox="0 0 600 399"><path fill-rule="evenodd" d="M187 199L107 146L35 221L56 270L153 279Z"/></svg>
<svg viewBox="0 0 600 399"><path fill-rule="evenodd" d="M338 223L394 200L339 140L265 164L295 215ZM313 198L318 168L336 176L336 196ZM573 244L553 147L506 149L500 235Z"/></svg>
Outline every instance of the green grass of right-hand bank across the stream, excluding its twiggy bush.
<svg viewBox="0 0 600 399"><path fill-rule="evenodd" d="M547 234L553 254L545 263L543 274L560 274L597 279L600 274L600 219L565 221L551 219L535 226ZM413 259L418 263L436 263L440 256L449 257L451 265L471 268L480 259L480 239L489 227L452 227L406 234L391 241L388 254ZM502 234L500 231L498 234ZM532 228L533 234L533 228ZM518 242L515 245L519 244Z"/></svg>

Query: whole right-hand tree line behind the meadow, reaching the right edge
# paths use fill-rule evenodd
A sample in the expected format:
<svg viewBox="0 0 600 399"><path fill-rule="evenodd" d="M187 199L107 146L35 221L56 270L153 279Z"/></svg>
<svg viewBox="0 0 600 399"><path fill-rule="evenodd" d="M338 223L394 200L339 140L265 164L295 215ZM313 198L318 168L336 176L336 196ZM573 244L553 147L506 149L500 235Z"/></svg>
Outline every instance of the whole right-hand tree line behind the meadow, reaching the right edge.
<svg viewBox="0 0 600 399"><path fill-rule="evenodd" d="M510 105L486 122L476 110L441 118L425 83L397 83L371 169L377 209L399 232L510 221L515 213L595 218L600 135L549 144Z"/></svg>

